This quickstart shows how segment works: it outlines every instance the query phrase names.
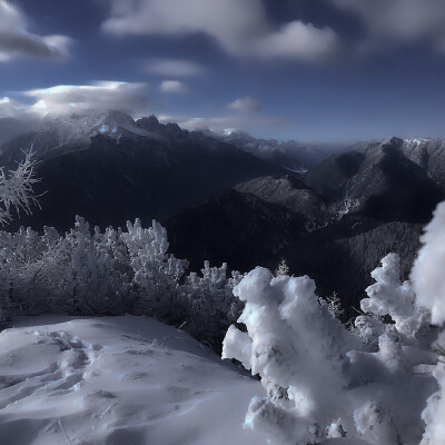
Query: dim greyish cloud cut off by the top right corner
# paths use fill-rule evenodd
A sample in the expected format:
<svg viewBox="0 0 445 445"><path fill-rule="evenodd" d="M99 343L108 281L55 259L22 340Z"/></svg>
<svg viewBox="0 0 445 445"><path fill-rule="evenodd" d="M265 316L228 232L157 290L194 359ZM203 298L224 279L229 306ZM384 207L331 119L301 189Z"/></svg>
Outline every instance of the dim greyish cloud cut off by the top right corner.
<svg viewBox="0 0 445 445"><path fill-rule="evenodd" d="M426 41L445 51L443 0L330 0L356 14L366 28L365 48L388 48Z"/></svg>

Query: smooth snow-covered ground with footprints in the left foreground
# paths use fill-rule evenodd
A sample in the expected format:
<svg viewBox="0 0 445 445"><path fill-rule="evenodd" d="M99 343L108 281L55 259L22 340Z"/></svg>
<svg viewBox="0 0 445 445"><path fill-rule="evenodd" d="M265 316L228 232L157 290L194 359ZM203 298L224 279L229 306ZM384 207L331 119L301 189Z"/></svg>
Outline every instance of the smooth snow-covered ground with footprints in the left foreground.
<svg viewBox="0 0 445 445"><path fill-rule="evenodd" d="M20 318L0 334L1 445L266 444L260 384L148 317Z"/></svg>

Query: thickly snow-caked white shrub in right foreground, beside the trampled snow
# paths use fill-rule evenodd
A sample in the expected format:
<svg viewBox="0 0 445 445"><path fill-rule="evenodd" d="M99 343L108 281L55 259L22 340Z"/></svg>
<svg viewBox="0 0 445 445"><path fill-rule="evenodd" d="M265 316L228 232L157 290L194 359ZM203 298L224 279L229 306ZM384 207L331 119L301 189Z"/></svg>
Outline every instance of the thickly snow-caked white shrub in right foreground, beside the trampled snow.
<svg viewBox="0 0 445 445"><path fill-rule="evenodd" d="M437 357L426 347L434 337L429 314L415 306L409 283L400 283L396 256L384 258L373 277L362 304L369 315L358 318L357 334L333 317L308 277L274 278L256 268L240 281L235 294L246 301L239 322L247 333L231 326L222 357L261 378L266 395L251 400L247 427L273 444L343 436L372 445L421 442L421 413L437 390L429 372Z"/></svg>

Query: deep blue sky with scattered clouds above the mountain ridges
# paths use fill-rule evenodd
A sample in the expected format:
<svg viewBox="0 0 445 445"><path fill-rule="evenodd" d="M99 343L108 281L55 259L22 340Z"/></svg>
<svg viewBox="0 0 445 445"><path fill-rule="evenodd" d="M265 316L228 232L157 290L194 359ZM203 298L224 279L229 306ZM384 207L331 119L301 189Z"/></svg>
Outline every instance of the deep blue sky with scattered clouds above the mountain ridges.
<svg viewBox="0 0 445 445"><path fill-rule="evenodd" d="M0 0L0 118L445 138L443 0Z"/></svg>

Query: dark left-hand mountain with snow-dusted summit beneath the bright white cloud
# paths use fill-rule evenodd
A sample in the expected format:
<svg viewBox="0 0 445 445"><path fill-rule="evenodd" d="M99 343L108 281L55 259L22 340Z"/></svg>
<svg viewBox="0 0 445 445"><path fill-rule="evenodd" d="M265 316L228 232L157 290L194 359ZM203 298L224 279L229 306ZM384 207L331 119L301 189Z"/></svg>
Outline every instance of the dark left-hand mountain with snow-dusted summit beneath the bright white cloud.
<svg viewBox="0 0 445 445"><path fill-rule="evenodd" d="M218 139L155 117L135 122L117 111L47 118L3 144L0 162L20 159L22 148L32 148L40 161L42 211L13 226L67 230L76 215L102 227L136 217L165 220L221 187L277 172Z"/></svg>

